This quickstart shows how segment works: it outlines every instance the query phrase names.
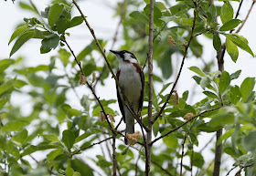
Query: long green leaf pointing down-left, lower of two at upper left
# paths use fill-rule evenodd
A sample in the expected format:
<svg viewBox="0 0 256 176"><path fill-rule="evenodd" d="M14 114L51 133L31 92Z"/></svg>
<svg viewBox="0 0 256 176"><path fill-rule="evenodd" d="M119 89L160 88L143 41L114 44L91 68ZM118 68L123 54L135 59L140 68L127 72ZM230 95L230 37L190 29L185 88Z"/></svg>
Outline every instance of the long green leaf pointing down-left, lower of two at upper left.
<svg viewBox="0 0 256 176"><path fill-rule="evenodd" d="M11 50L10 57L16 53L16 51L22 47L30 38L33 38L34 30L29 30L23 33L19 38L16 40L14 47Z"/></svg>

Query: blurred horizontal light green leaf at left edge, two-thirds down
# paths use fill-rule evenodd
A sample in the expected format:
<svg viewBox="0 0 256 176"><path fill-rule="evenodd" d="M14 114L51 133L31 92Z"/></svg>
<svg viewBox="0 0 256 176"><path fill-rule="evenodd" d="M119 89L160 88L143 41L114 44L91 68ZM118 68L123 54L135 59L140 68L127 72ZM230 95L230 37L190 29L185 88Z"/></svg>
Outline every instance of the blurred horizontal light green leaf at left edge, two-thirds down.
<svg viewBox="0 0 256 176"><path fill-rule="evenodd" d="M14 121L8 121L1 130L2 132L20 131L27 125L29 125L27 120L16 119Z"/></svg>

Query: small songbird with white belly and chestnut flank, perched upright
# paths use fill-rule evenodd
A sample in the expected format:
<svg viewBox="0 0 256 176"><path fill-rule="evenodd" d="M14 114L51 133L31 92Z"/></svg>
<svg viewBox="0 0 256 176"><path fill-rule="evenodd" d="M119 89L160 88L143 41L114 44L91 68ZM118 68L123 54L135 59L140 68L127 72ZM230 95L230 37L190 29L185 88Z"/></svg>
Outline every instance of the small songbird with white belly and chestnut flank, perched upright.
<svg viewBox="0 0 256 176"><path fill-rule="evenodd" d="M128 99L131 109L136 113L140 113L144 103L144 72L137 58L133 53L121 50L110 50L119 60L117 71L117 79L123 89L125 97ZM116 85L117 98L119 108L123 115L124 123L126 123L125 132L128 134L134 133L134 117L123 102L123 94L120 88ZM125 144L128 144L126 139Z"/></svg>

